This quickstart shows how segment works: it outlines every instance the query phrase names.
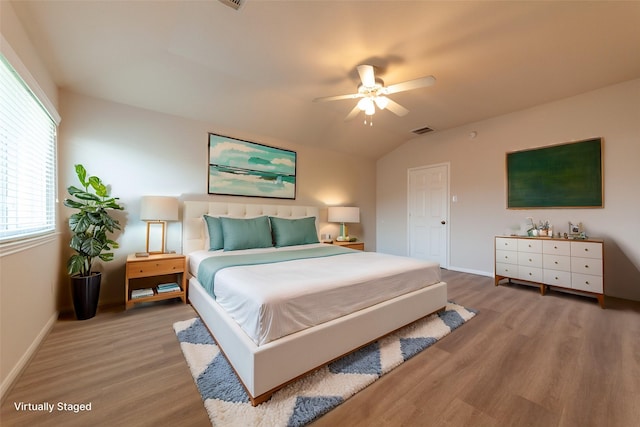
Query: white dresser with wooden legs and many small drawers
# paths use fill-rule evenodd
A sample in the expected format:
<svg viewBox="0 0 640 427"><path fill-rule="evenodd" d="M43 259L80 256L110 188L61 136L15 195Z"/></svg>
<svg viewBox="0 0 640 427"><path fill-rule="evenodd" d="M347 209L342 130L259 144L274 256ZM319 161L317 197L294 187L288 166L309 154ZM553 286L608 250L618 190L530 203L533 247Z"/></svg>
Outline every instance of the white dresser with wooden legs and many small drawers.
<svg viewBox="0 0 640 427"><path fill-rule="evenodd" d="M568 289L598 298L604 308L604 243L599 239L495 238L495 284L502 279Z"/></svg>

